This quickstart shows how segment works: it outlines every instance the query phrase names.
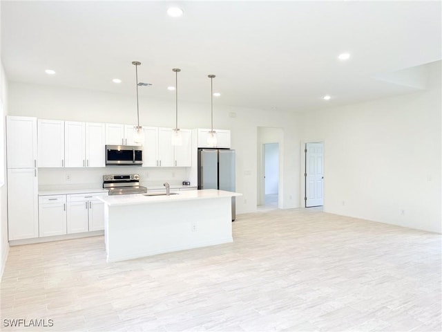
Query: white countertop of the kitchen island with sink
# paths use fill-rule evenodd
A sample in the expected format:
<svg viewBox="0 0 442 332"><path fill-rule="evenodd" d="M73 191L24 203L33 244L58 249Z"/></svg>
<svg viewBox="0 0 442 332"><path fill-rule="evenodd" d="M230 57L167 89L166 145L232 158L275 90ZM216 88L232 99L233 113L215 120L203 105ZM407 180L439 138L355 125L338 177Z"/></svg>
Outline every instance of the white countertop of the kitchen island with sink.
<svg viewBox="0 0 442 332"><path fill-rule="evenodd" d="M173 190L171 190L173 192ZM226 192L224 190L206 189L206 190L186 190L184 192L176 192L176 195L162 196L144 196L143 194L133 195L115 195L97 197L109 206L116 205L133 205L148 203L164 203L171 201L191 201L195 199L216 199L233 196L242 196L239 192Z"/></svg>

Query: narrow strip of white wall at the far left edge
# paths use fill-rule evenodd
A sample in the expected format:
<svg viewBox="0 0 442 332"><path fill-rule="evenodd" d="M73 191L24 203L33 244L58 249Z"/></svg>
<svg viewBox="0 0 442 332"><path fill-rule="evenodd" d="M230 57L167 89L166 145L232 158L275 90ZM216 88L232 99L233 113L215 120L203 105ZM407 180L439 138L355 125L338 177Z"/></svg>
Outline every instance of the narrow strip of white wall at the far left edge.
<svg viewBox="0 0 442 332"><path fill-rule="evenodd" d="M6 183L6 131L5 116L8 114L8 81L3 64L0 68L0 277L8 258L8 185Z"/></svg>

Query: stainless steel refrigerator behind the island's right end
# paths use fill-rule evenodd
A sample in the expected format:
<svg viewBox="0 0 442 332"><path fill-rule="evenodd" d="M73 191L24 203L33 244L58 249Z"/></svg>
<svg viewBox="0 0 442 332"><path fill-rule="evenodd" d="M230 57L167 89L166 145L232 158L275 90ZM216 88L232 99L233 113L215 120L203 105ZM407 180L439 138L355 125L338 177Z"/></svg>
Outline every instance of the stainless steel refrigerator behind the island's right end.
<svg viewBox="0 0 442 332"><path fill-rule="evenodd" d="M235 150L198 149L198 189L235 192ZM236 218L236 201L232 197L232 221Z"/></svg>

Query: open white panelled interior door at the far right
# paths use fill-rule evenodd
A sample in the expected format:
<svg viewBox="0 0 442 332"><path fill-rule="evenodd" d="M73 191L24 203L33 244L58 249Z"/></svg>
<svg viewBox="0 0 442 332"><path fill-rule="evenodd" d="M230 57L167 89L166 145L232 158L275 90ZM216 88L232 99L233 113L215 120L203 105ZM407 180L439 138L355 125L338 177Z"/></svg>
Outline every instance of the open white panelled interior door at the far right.
<svg viewBox="0 0 442 332"><path fill-rule="evenodd" d="M324 205L324 145L305 144L305 207Z"/></svg>

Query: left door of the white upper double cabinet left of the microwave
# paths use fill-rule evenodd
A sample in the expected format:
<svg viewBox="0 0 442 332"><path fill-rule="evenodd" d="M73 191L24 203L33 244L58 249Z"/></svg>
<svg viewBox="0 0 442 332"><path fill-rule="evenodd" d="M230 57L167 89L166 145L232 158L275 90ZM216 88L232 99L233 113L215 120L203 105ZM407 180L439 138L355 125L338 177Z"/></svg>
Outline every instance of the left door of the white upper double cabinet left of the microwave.
<svg viewBox="0 0 442 332"><path fill-rule="evenodd" d="M65 167L86 166L86 124L84 122L64 122ZM104 154L104 152L103 152Z"/></svg>

